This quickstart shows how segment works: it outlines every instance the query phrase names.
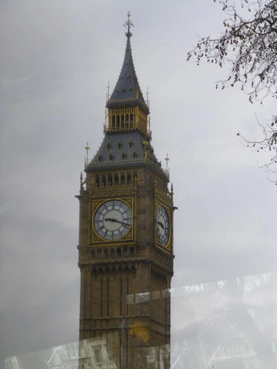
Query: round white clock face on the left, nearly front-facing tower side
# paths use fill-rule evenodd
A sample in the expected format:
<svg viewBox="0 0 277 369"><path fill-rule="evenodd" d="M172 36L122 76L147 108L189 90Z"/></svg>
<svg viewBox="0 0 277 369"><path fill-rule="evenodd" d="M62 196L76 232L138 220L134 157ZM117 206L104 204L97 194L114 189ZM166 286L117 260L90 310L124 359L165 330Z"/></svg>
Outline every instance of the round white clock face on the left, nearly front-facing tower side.
<svg viewBox="0 0 277 369"><path fill-rule="evenodd" d="M132 224L131 210L120 200L103 203L94 216L94 228L104 240L118 240L125 236Z"/></svg>

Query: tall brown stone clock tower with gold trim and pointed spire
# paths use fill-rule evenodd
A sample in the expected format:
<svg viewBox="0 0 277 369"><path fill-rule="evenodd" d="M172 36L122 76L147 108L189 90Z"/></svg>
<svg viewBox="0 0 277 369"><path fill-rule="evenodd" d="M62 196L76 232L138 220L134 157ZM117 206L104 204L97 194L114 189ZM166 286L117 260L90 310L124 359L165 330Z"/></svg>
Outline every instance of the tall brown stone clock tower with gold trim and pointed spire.
<svg viewBox="0 0 277 369"><path fill-rule="evenodd" d="M129 13L125 26L124 61L107 95L104 138L94 158L85 161L77 196L79 339L105 338L117 369L146 368L147 348L155 347L156 360L167 369L173 189L168 190L169 172L151 145L148 98L145 103L133 66Z"/></svg>

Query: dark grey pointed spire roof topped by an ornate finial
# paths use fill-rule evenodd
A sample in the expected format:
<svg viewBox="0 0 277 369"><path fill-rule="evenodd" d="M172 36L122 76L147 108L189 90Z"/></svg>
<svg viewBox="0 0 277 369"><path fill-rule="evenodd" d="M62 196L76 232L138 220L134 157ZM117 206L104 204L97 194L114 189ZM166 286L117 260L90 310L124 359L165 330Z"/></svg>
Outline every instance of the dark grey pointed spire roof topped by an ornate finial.
<svg viewBox="0 0 277 369"><path fill-rule="evenodd" d="M132 61L130 43L132 33L130 32L130 26L133 24L129 20L129 16L130 13L128 12L128 20L124 24L124 26L127 26L128 31L125 33L127 42L123 65L114 90L110 98L107 100L106 107L112 108L117 105L122 106L122 104L126 106L139 105L146 114L149 114L149 109L142 96Z"/></svg>

